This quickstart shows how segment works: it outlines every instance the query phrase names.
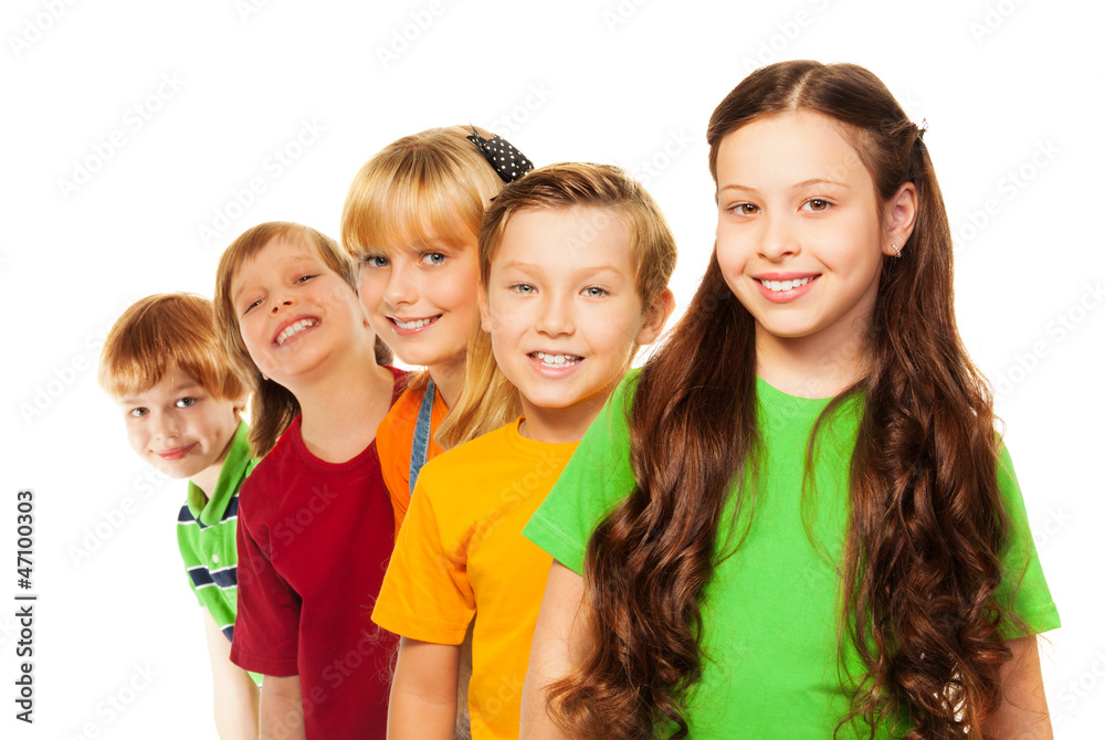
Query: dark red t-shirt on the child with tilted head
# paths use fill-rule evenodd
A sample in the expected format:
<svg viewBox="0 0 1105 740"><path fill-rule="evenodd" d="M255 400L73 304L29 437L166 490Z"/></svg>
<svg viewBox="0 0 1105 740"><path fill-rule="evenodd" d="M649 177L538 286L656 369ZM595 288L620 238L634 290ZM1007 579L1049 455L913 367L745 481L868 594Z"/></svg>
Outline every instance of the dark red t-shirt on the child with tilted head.
<svg viewBox="0 0 1105 740"><path fill-rule="evenodd" d="M394 403L402 372L392 372ZM299 421L239 494L230 658L246 670L299 676L308 738L383 738L397 637L369 617L394 519L376 441L328 463L307 451Z"/></svg>

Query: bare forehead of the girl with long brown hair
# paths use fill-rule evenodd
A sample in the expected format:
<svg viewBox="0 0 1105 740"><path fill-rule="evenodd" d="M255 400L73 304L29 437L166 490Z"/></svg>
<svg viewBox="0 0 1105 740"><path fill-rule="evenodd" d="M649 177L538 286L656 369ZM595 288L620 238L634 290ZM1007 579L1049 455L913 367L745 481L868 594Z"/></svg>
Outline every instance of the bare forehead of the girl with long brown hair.
<svg viewBox="0 0 1105 740"><path fill-rule="evenodd" d="M798 112L759 118L728 134L718 147L719 190L733 184L785 188L809 180L874 184L841 125L824 116Z"/></svg>

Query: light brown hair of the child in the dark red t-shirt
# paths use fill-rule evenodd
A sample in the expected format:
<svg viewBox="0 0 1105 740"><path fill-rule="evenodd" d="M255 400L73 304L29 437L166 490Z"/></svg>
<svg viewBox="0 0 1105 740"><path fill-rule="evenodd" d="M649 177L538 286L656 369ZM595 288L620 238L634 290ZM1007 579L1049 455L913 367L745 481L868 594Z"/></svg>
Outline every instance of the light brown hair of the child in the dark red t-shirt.
<svg viewBox="0 0 1105 740"><path fill-rule="evenodd" d="M311 226L286 221L262 223L244 231L222 253L215 273L215 325L231 362L250 378L253 385L255 398L250 444L257 457L266 455L273 448L276 440L298 415L299 402L292 391L275 381L265 380L253 363L238 325L230 287L241 266L256 257L273 240L313 246L326 266L340 275L354 293L357 292L357 275L352 263L341 254L337 242ZM379 364L391 361L391 349L379 337L376 338L376 361Z"/></svg>

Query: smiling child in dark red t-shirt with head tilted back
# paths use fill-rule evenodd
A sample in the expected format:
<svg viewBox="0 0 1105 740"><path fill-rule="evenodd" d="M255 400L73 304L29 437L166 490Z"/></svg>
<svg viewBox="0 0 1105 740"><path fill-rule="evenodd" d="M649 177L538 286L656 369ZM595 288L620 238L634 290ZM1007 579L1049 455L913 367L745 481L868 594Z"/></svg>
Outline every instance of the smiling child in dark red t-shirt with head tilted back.
<svg viewBox="0 0 1105 740"><path fill-rule="evenodd" d="M390 357L354 281L333 240L293 223L248 230L219 263L219 331L251 371L250 440L265 454L242 488L231 651L265 675L262 737L386 730L394 642L371 628L367 609L392 516L375 438L402 373L381 364Z"/></svg>

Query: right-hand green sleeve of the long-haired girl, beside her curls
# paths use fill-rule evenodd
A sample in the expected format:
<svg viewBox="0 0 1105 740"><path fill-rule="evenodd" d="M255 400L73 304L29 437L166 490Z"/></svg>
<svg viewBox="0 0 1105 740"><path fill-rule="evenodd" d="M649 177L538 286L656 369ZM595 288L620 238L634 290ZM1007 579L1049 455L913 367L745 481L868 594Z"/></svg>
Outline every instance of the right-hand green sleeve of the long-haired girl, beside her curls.
<svg viewBox="0 0 1105 740"><path fill-rule="evenodd" d="M1002 553L1001 584L994 599L1023 623L1004 624L1002 634L1012 638L1055 630L1060 626L1059 610L1032 542L1024 498L1004 444L998 461L998 489L1009 516L1009 539Z"/></svg>

